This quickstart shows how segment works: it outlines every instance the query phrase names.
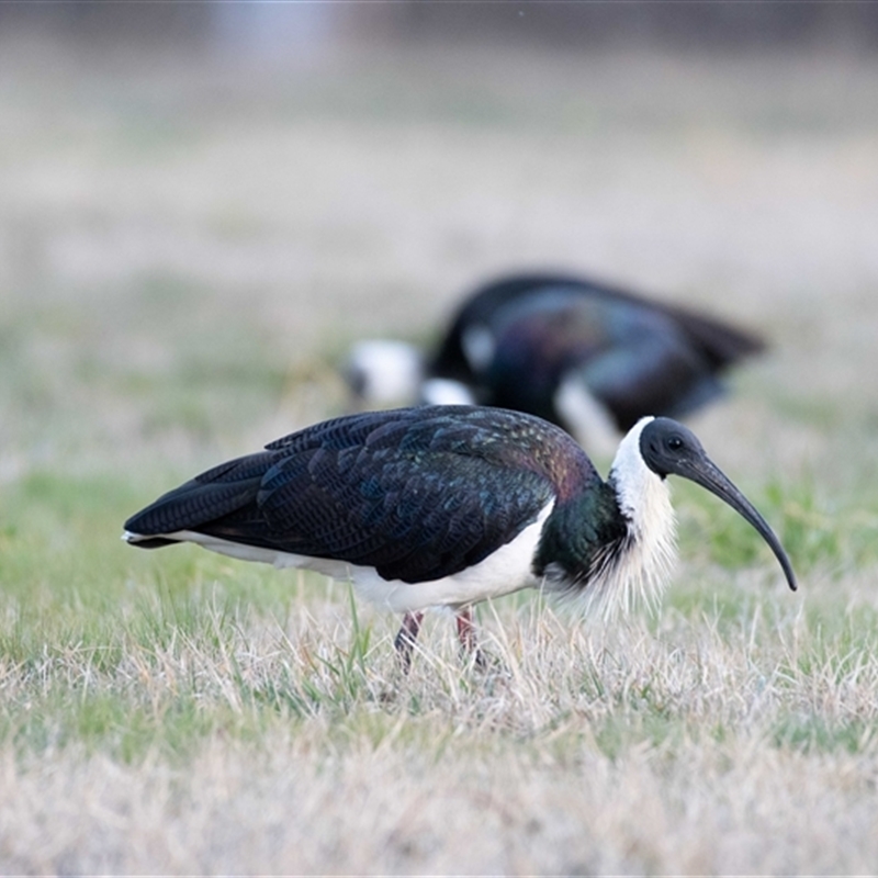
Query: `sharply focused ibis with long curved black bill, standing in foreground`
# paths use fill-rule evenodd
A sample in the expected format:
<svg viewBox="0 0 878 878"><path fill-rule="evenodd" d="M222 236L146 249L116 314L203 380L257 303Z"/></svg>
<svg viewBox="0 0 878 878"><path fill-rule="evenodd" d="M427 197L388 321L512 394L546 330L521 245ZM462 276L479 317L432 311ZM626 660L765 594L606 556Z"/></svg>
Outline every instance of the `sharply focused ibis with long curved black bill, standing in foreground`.
<svg viewBox="0 0 878 878"><path fill-rule="evenodd" d="M608 616L654 604L675 553L667 475L732 506L796 588L763 517L669 418L639 420L604 481L562 429L518 412L420 406L307 427L202 473L132 516L124 539L193 542L350 581L404 615L407 669L423 614L449 607L475 648L473 605L522 588L583 596Z"/></svg>

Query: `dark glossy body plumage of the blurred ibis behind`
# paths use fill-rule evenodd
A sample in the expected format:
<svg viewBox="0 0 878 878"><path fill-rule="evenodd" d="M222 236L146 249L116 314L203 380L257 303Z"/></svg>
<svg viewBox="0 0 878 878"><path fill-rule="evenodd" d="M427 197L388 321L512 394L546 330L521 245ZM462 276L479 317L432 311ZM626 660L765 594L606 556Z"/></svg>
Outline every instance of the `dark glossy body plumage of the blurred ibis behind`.
<svg viewBox="0 0 878 878"><path fill-rule="evenodd" d="M468 351L491 336L483 362ZM554 393L576 371L627 430L640 417L679 417L721 393L717 374L761 350L756 337L686 308L563 274L483 286L464 303L428 367L479 402L562 423ZM477 359L477 358L476 358Z"/></svg>

